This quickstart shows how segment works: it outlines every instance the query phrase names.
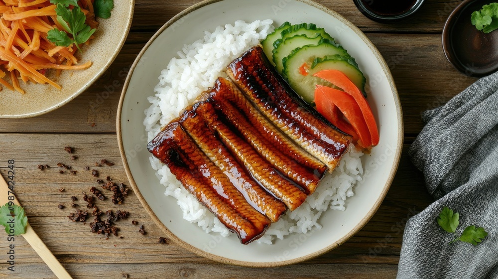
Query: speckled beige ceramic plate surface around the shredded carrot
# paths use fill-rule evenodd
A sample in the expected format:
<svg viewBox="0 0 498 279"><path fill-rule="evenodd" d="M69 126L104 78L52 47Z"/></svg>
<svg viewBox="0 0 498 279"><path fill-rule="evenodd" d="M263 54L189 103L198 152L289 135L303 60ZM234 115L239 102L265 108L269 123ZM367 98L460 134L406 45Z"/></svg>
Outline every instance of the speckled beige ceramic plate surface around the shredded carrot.
<svg viewBox="0 0 498 279"><path fill-rule="evenodd" d="M3 88L0 92L0 118L28 118L48 113L64 106L90 87L109 68L123 47L134 5L135 0L115 1L111 17L99 19L95 39L79 56L82 63L90 60L93 65L86 70L62 71L56 79L62 90L47 84L24 84L22 81L20 85L26 92L24 95Z"/></svg>

